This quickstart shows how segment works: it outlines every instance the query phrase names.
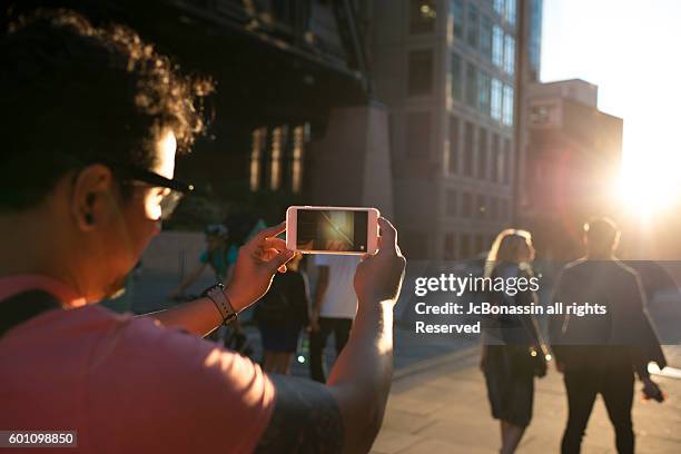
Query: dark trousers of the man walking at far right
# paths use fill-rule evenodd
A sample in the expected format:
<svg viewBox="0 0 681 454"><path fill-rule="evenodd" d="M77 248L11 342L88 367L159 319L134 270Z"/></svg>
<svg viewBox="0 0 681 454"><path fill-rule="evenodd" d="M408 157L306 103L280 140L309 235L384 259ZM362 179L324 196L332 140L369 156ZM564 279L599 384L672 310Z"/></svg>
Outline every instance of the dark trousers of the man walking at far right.
<svg viewBox="0 0 681 454"><path fill-rule="evenodd" d="M603 396L608 416L615 430L618 453L634 452L634 434L631 422L634 376L625 366L611 369L565 371L568 391L568 427L563 434L561 453L579 453L596 395Z"/></svg>

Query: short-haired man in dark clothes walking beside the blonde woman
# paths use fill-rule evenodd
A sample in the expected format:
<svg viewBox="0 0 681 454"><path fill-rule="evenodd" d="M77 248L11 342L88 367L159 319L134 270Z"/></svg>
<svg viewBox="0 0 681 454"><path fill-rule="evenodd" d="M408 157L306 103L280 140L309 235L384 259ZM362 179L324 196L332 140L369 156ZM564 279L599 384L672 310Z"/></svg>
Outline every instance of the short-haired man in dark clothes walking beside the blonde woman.
<svg viewBox="0 0 681 454"><path fill-rule="evenodd" d="M580 452L599 393L615 430L618 452L634 452L634 372L643 382L644 396L662 401L660 388L648 373L648 363L655 362L662 368L667 362L645 312L639 275L613 256L619 238L610 219L585 224L586 256L565 266L555 285L553 302L606 307L604 315L563 314L550 320L556 368L564 373L568 392L563 454Z"/></svg>

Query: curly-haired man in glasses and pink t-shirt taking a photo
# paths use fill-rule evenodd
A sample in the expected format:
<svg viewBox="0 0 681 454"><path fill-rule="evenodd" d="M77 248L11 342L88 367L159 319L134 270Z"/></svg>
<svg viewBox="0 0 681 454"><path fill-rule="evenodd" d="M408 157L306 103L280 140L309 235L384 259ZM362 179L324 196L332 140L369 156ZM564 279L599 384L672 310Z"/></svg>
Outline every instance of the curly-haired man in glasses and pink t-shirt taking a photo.
<svg viewBox="0 0 681 454"><path fill-rule="evenodd" d="M0 430L76 431L80 452L366 452L392 372L396 231L355 275L351 339L326 386L266 375L200 336L268 289L293 253L264 230L228 288L146 317L92 305L191 186L175 155L210 83L131 30L41 10L0 37Z"/></svg>

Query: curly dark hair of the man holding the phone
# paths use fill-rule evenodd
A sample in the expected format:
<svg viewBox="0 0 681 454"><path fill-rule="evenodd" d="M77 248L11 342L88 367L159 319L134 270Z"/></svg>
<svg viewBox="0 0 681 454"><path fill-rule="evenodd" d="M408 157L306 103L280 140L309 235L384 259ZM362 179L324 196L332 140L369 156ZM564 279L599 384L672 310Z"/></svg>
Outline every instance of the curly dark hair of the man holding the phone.
<svg viewBox="0 0 681 454"><path fill-rule="evenodd" d="M168 128L188 151L211 90L125 26L65 9L17 18L0 38L0 211L39 204L75 168L65 156L149 168Z"/></svg>

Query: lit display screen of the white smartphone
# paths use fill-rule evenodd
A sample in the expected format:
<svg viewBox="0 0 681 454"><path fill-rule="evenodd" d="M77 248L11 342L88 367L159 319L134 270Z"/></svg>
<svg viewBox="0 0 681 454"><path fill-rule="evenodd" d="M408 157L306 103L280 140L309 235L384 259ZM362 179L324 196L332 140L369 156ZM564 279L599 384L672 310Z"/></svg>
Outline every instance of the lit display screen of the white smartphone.
<svg viewBox="0 0 681 454"><path fill-rule="evenodd" d="M368 211L298 209L297 248L364 253L367 249Z"/></svg>

